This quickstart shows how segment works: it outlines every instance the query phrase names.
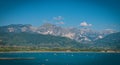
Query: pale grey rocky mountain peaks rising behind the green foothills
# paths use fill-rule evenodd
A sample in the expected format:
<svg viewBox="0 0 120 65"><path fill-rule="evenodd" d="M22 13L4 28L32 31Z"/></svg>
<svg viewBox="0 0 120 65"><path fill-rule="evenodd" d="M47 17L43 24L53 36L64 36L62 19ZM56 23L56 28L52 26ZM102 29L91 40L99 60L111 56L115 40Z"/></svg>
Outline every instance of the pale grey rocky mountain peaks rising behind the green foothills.
<svg viewBox="0 0 120 65"><path fill-rule="evenodd" d="M50 34L54 36L68 37L79 42L92 42L104 38L106 35L114 33L115 31L104 30L98 32L89 28L64 28L51 23L45 23L40 27L34 27L30 24L11 24L7 26L1 26L0 32L29 32L44 35Z"/></svg>

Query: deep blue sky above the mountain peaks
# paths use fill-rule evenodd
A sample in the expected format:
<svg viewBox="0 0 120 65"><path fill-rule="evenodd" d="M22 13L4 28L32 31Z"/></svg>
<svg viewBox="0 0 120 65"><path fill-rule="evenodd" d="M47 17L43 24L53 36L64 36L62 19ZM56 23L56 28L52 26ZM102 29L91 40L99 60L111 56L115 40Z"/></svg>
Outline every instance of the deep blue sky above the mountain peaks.
<svg viewBox="0 0 120 65"><path fill-rule="evenodd" d="M0 0L0 26L45 22L96 30L120 28L119 0Z"/></svg>

